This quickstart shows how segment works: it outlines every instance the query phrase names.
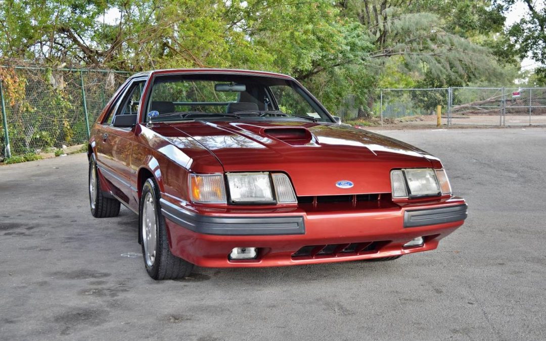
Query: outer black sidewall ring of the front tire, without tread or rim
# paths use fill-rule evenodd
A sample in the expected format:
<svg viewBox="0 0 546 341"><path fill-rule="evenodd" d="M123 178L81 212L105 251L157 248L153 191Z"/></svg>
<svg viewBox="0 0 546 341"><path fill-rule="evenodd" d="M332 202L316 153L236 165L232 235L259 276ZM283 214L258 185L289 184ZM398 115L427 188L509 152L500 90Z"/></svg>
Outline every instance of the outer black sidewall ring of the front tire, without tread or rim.
<svg viewBox="0 0 546 341"><path fill-rule="evenodd" d="M146 195L150 193L152 195L153 201L154 201L154 207L155 207L155 215L156 215L156 257L153 260L153 265L148 266L146 263L146 249L144 247L144 235L143 235L143 211L144 211L144 201L146 200ZM142 189L142 195L140 196L140 208L139 208L139 233L141 235L142 240L142 254L143 254L143 260L144 260L144 266L146 267L146 271L150 274L152 278L155 278L157 276L157 273L159 272L159 264L161 264L161 255L162 255L162 245L161 245L161 237L162 237L162 230L163 230L163 220L162 215L159 212L159 196L157 191L157 185L155 181L153 181L151 178L146 180L144 183L143 189Z"/></svg>

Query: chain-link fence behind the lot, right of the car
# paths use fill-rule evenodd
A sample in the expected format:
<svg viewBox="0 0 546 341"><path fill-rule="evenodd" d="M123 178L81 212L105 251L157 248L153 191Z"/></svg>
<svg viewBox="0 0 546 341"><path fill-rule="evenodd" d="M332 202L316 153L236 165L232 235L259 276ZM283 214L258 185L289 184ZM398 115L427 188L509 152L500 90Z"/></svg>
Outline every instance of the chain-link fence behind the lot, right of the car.
<svg viewBox="0 0 546 341"><path fill-rule="evenodd" d="M345 98L337 111L343 121L376 119L436 125L546 125L546 88L450 87L377 89L364 100Z"/></svg>

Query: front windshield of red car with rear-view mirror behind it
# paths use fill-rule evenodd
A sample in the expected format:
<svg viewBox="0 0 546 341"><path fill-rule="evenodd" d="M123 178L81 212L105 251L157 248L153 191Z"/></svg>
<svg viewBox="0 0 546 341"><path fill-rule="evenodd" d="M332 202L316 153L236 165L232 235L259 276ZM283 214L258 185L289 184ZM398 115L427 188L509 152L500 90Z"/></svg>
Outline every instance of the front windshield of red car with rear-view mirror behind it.
<svg viewBox="0 0 546 341"><path fill-rule="evenodd" d="M332 122L296 82L275 77L207 74L157 76L147 118L305 120Z"/></svg>

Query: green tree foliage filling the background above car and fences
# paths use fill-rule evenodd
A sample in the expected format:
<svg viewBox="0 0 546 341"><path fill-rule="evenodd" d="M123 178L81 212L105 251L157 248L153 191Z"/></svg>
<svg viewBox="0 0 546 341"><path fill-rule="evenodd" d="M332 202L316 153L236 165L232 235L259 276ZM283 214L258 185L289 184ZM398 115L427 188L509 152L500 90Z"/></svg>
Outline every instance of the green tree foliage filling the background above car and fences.
<svg viewBox="0 0 546 341"><path fill-rule="evenodd" d="M544 21L533 15L507 35L505 8L495 0L12 0L0 2L0 55L51 64L46 80L61 63L277 71L332 111L352 94L371 115L377 87L512 81L507 70L519 65L511 38L536 37L522 38L521 53L543 46ZM117 20L105 22L106 12ZM76 142L85 125L67 117L78 99L52 85L48 100L60 107L48 117L61 127L51 139ZM30 127L16 129L26 136Z"/></svg>

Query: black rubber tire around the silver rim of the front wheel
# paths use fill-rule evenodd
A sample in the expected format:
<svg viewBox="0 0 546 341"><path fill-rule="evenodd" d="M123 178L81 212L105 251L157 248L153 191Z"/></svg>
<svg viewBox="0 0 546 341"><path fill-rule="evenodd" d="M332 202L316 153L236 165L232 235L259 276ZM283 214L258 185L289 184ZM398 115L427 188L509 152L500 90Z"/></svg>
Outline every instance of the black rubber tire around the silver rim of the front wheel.
<svg viewBox="0 0 546 341"><path fill-rule="evenodd" d="M146 237L143 231L143 216L144 206L148 195L152 196L154 205L155 216L155 233L156 233L156 252L152 264L149 264L149 260L146 257ZM144 256L144 266L151 278L162 279L179 279L188 277L192 273L193 264L185 261L170 252L169 240L167 237L167 226L165 225L165 218L161 213L161 206L159 206L159 188L153 178L146 180L143 186L142 195L140 197L140 209L139 209L139 233L142 240L142 253ZM149 212L149 211L147 211ZM149 214L149 213L146 213Z"/></svg>

